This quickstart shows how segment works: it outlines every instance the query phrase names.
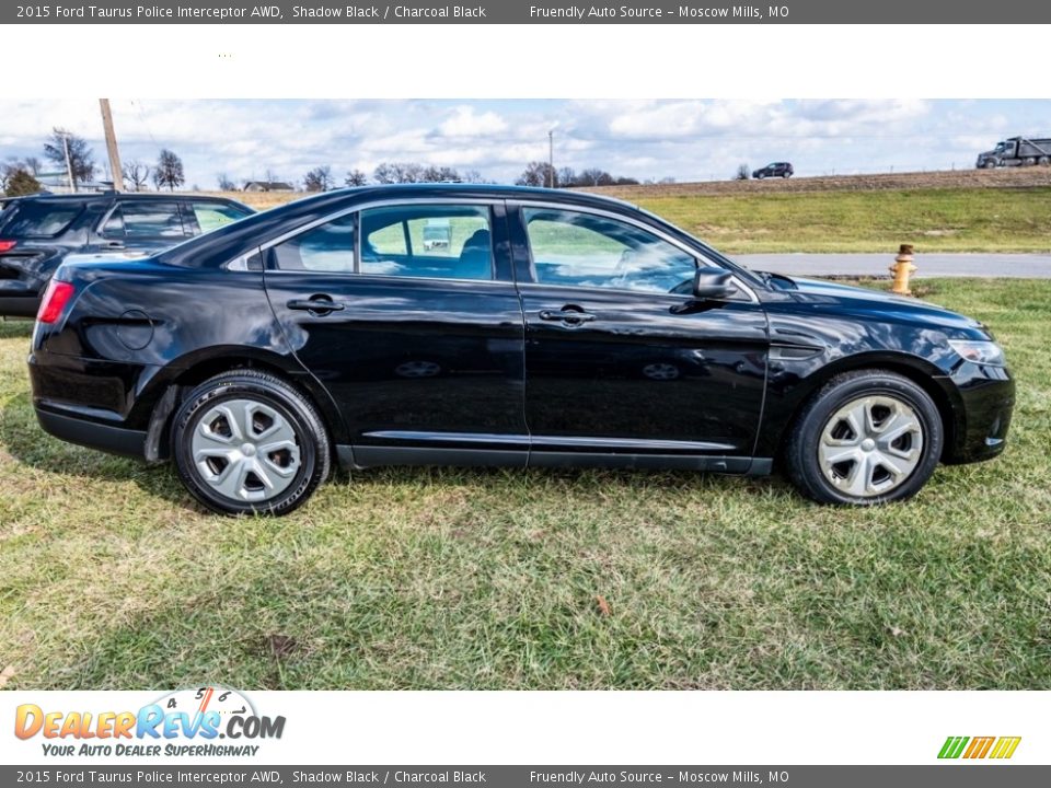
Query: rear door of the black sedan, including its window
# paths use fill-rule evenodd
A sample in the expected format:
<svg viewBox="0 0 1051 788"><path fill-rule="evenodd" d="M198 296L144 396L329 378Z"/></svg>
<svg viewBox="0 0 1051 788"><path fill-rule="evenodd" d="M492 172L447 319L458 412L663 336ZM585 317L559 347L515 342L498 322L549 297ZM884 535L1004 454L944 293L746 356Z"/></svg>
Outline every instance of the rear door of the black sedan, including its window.
<svg viewBox="0 0 1051 788"><path fill-rule="evenodd" d="M449 243L424 243L428 221ZM524 465L524 328L499 200L373 205L264 252L299 360L340 408L359 465Z"/></svg>

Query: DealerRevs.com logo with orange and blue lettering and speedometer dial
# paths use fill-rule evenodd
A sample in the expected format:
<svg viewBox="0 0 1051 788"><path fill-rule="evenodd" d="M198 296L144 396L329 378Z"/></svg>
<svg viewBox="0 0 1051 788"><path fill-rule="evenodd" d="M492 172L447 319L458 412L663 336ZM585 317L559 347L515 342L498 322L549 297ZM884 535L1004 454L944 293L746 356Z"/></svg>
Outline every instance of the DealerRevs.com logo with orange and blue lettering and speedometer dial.
<svg viewBox="0 0 1051 788"><path fill-rule="evenodd" d="M14 734L39 737L45 755L252 756L280 739L285 717L256 712L243 693L224 687L180 690L137 711L15 709ZM221 741L220 741L221 740Z"/></svg>

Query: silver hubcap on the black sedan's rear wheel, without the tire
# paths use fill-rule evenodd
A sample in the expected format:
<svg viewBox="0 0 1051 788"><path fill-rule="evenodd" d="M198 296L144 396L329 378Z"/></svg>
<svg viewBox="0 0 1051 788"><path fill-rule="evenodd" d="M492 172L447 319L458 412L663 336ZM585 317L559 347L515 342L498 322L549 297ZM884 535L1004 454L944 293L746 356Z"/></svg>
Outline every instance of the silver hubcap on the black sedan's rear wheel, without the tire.
<svg viewBox="0 0 1051 788"><path fill-rule="evenodd" d="M292 426L270 406L252 399L232 399L209 409L194 430L190 450L205 483L236 501L280 495L300 465Z"/></svg>

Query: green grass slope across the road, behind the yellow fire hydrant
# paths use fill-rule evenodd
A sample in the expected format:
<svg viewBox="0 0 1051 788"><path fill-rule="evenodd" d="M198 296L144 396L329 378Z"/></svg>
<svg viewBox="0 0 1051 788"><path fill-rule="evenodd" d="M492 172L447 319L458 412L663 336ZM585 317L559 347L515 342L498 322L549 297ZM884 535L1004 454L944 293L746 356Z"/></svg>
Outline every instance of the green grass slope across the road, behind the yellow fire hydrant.
<svg viewBox="0 0 1051 788"><path fill-rule="evenodd" d="M1051 188L640 197L728 254L1051 251Z"/></svg>

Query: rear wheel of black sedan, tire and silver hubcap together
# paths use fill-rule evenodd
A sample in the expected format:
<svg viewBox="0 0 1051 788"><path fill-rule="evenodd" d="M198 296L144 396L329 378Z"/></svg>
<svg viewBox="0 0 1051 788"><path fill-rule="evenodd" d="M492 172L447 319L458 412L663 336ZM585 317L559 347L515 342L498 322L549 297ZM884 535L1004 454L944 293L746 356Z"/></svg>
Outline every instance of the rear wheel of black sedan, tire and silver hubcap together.
<svg viewBox="0 0 1051 788"><path fill-rule="evenodd" d="M286 514L328 476L331 447L313 404L255 370L216 375L186 397L172 425L186 489L222 514Z"/></svg>

